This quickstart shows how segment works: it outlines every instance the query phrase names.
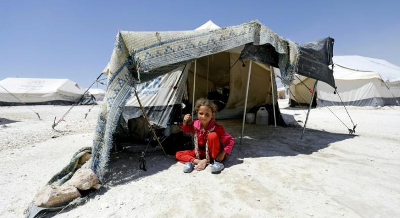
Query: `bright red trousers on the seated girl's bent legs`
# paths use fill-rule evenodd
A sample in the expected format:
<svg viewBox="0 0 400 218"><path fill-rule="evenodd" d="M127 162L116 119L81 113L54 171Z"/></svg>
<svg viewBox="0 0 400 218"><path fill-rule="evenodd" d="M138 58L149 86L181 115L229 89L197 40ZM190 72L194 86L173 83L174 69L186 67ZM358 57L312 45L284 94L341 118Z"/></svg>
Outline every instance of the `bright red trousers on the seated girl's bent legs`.
<svg viewBox="0 0 400 218"><path fill-rule="evenodd" d="M207 142L208 142L208 152L210 155L210 159L214 160L221 152L221 144L219 142L217 133L210 132L207 135ZM198 155L200 156L200 159L206 159L206 148L199 147ZM193 162L194 159L196 159L196 154L194 150L180 151L176 153L175 157L179 162L186 163L186 162Z"/></svg>

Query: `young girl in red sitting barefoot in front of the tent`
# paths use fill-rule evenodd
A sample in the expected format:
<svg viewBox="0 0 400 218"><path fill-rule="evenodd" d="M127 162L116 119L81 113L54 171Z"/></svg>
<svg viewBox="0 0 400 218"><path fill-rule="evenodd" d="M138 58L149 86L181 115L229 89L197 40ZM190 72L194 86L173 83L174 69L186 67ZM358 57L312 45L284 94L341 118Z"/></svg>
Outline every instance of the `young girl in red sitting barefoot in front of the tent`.
<svg viewBox="0 0 400 218"><path fill-rule="evenodd" d="M196 101L194 110L198 120L187 124L191 119L191 116L187 114L180 126L184 133L194 134L194 150L177 152L176 159L185 163L184 172L191 172L193 167L197 171L204 170L211 162L213 162L211 171L219 172L224 168L220 162L232 151L234 138L225 132L223 126L215 123L217 106L214 102L200 98Z"/></svg>

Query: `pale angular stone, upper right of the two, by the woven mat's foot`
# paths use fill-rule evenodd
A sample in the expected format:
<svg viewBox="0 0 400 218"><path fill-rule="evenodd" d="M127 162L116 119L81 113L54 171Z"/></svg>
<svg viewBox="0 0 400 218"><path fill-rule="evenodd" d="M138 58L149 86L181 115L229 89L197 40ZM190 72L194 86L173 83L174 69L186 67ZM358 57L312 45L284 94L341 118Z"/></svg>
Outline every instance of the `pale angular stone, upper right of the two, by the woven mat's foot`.
<svg viewBox="0 0 400 218"><path fill-rule="evenodd" d="M100 181L91 169L78 169L64 185L73 186L79 190L100 189ZM63 185L63 186L64 186Z"/></svg>

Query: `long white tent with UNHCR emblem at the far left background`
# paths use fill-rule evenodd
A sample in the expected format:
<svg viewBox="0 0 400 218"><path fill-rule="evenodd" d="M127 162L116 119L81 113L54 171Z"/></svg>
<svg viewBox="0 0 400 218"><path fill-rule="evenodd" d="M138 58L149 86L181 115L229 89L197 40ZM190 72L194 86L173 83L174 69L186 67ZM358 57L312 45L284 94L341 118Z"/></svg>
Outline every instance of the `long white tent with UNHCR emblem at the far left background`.
<svg viewBox="0 0 400 218"><path fill-rule="evenodd" d="M72 104L84 94L68 79L6 78L0 81L0 105Z"/></svg>

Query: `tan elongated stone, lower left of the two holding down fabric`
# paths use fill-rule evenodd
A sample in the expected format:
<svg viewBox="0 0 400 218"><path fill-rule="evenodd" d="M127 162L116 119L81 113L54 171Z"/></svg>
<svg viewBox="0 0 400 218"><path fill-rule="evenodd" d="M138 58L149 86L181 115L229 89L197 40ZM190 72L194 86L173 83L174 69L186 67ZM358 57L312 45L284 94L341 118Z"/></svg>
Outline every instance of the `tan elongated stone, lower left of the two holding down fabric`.
<svg viewBox="0 0 400 218"><path fill-rule="evenodd" d="M47 185L36 193L34 202L38 207L59 207L78 197L81 193L73 186Z"/></svg>

